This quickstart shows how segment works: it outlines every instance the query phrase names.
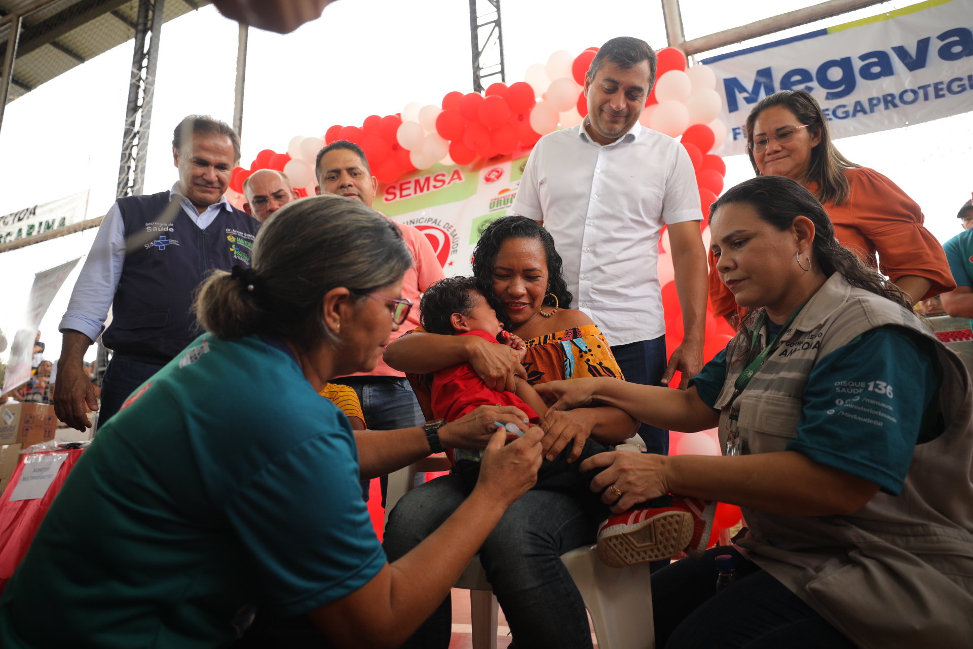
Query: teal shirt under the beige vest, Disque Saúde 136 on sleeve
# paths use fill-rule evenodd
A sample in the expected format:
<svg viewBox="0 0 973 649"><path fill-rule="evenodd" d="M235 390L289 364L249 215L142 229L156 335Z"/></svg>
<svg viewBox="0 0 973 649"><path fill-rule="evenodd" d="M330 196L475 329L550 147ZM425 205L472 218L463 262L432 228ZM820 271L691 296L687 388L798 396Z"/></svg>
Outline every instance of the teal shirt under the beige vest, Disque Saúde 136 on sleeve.
<svg viewBox="0 0 973 649"><path fill-rule="evenodd" d="M724 349L689 381L710 408L726 381L726 356ZM901 327L866 332L811 370L797 437L786 450L898 495L916 445L943 431L936 398L942 375L935 343L928 338ZM878 415L860 416L862 403L855 395L878 404L867 409Z"/></svg>

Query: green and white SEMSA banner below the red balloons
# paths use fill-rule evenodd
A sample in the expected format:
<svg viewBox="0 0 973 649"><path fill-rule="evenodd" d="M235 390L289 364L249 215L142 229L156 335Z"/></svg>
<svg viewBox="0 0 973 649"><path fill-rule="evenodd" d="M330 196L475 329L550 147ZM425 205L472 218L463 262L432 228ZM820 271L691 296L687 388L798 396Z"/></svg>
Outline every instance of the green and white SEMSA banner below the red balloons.
<svg viewBox="0 0 973 649"><path fill-rule="evenodd" d="M480 234L507 214L526 162L526 156L473 165L437 162L379 186L373 206L425 234L447 276L468 275Z"/></svg>

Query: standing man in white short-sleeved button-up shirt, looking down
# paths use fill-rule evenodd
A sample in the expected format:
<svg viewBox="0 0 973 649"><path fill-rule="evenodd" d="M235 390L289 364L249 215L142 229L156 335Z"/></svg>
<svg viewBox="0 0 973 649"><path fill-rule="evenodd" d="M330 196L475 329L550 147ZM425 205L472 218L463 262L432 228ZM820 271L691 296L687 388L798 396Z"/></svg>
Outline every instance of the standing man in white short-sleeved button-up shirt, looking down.
<svg viewBox="0 0 973 649"><path fill-rule="evenodd" d="M644 41L605 43L585 79L588 117L537 142L510 212L554 236L576 306L601 328L626 379L668 383L679 371L685 387L703 368L703 215L685 149L638 124L655 74ZM664 226L685 329L668 362L656 270ZM642 424L639 434L648 451L667 454L667 431Z"/></svg>

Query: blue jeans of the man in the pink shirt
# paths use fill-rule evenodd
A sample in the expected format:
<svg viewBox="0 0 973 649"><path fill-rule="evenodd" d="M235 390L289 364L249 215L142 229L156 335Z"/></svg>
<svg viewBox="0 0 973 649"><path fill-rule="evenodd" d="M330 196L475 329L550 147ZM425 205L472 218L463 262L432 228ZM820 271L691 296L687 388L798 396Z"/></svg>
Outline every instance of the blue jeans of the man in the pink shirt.
<svg viewBox="0 0 973 649"><path fill-rule="evenodd" d="M419 402L415 399L409 379L401 377L342 377L332 379L332 383L342 383L354 388L358 403L365 415L365 425L369 430L398 430L421 426L425 422ZM425 482L425 474L415 474L415 484ZM382 476L381 506L385 506L385 491L388 476ZM368 502L369 481L362 481L362 497Z"/></svg>

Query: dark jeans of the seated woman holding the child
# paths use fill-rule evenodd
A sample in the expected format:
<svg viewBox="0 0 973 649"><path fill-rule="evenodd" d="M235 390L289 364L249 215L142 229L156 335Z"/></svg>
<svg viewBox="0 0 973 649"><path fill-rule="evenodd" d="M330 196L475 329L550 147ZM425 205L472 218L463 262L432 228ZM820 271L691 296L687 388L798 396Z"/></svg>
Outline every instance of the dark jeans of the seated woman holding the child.
<svg viewBox="0 0 973 649"><path fill-rule="evenodd" d="M455 475L415 488L389 515L382 547L400 559L429 536L466 499L469 489ZM534 489L504 513L486 537L480 560L519 647L590 649L585 604L560 560L565 552L594 543L598 510L558 491ZM450 646L450 597L402 646Z"/></svg>

